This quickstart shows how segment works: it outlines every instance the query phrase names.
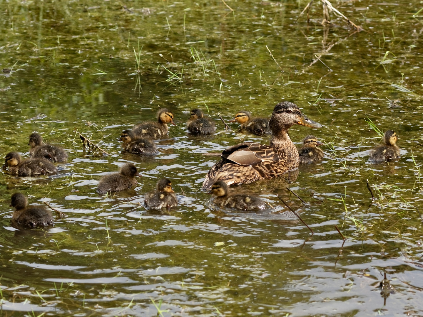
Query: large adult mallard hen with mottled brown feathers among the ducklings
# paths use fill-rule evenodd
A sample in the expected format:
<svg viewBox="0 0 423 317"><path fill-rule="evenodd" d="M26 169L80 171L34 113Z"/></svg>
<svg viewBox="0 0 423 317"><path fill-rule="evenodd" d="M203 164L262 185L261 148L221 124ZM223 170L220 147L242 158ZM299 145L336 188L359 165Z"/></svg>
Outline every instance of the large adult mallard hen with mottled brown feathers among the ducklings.
<svg viewBox="0 0 423 317"><path fill-rule="evenodd" d="M218 180L228 185L247 184L298 168L298 150L288 135L288 129L296 124L321 127L321 124L304 117L295 103L278 103L269 120L272 130L270 145L246 142L228 147L222 152L222 160L207 173L203 189L210 189Z"/></svg>

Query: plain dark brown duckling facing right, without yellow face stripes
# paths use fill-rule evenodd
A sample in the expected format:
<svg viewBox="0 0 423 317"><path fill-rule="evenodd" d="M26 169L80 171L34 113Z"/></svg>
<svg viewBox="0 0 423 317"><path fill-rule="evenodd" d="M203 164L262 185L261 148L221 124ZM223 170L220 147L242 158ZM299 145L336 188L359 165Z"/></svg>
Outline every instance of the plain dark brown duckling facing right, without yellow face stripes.
<svg viewBox="0 0 423 317"><path fill-rule="evenodd" d="M103 176L100 179L97 192L105 194L106 192L120 192L127 190L137 184L135 176L142 176L132 163L125 163L117 173Z"/></svg>

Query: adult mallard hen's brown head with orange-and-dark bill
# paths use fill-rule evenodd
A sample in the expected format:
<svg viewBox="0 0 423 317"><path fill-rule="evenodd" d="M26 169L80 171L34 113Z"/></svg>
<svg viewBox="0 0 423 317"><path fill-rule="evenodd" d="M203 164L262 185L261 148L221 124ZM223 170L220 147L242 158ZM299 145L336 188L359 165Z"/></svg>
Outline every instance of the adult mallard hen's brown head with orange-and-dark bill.
<svg viewBox="0 0 423 317"><path fill-rule="evenodd" d="M305 125L306 127L321 128L321 124L305 117L295 103L283 101L273 109L272 117L269 120L270 130L273 134L280 131L287 131L293 125Z"/></svg>

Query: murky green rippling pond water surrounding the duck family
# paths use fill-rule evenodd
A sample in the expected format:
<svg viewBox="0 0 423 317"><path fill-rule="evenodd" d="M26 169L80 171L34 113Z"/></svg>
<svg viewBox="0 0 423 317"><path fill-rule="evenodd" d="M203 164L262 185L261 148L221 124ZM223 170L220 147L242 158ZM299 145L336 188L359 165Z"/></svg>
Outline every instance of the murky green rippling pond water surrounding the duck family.
<svg viewBox="0 0 423 317"><path fill-rule="evenodd" d="M234 14L217 0L0 1L0 69L12 70L0 72L0 154L27 155L38 131L70 158L52 177L0 173L0 316L423 315L422 3L333 3L360 33L341 19L324 29L321 3L309 26L305 16L295 23L306 2L227 4ZM268 137L238 133L236 124L227 132L217 113L266 117L282 100L324 125L293 127L291 138L299 144L314 133L328 144L326 158L290 184L233 189L274 209L219 210L201 191L217 160L201 154ZM217 133L188 135L190 109L206 105ZM157 141L160 154L121 154L121 130L154 119L159 106L177 122ZM400 160L366 162L380 142L366 115L397 131ZM83 152L76 131L111 155ZM97 195L98 179L126 161L144 175L135 190ZM144 193L164 176L180 205L147 211ZM47 232L16 231L15 191L67 217ZM386 305L383 272L396 290Z"/></svg>

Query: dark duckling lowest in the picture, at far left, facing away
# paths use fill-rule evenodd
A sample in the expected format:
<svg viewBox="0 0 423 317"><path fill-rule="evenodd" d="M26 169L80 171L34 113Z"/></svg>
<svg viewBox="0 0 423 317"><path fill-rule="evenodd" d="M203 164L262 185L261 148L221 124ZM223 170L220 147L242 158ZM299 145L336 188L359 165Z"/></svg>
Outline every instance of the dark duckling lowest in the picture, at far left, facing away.
<svg viewBox="0 0 423 317"><path fill-rule="evenodd" d="M52 226L53 217L49 210L44 206L27 206L28 200L25 195L15 192L12 195L11 207L15 208L13 220L19 225L25 227L45 227Z"/></svg>

